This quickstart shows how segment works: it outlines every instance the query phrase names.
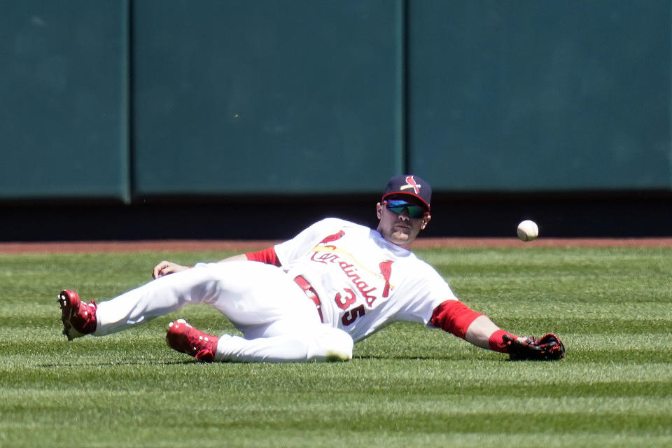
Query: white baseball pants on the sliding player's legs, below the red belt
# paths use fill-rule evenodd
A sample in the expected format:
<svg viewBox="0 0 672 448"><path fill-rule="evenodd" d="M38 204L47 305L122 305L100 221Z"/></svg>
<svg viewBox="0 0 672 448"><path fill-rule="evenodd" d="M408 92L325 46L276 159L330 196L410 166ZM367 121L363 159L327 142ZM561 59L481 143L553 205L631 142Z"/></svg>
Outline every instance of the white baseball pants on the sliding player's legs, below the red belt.
<svg viewBox="0 0 672 448"><path fill-rule="evenodd" d="M290 276L253 261L199 264L101 302L94 335L109 335L199 303L221 311L244 335L222 335L215 360L352 358L350 335L321 323L315 304Z"/></svg>

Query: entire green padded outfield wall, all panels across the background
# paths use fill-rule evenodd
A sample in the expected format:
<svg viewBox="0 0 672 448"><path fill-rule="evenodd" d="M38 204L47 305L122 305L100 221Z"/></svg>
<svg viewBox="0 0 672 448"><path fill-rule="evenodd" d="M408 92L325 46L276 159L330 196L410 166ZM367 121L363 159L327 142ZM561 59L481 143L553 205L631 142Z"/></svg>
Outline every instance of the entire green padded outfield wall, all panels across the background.
<svg viewBox="0 0 672 448"><path fill-rule="evenodd" d="M669 1L0 0L0 200L672 191Z"/></svg>

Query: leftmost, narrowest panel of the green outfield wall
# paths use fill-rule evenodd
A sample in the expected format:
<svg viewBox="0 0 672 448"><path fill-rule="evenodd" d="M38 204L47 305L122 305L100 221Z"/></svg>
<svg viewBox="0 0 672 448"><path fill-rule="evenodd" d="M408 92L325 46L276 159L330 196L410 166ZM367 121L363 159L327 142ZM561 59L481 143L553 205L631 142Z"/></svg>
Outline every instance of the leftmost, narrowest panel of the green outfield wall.
<svg viewBox="0 0 672 448"><path fill-rule="evenodd" d="M0 1L0 199L130 199L127 1Z"/></svg>

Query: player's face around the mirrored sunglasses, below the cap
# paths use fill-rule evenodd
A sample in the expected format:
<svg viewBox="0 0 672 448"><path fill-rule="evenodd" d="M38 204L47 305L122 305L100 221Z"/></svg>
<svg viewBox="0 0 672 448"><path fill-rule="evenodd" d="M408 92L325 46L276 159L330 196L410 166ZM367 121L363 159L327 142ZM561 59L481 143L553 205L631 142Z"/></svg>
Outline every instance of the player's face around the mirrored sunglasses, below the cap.
<svg viewBox="0 0 672 448"><path fill-rule="evenodd" d="M396 199L396 198L395 198ZM404 197L404 200L412 205L421 205L418 200L413 197ZM425 228L431 216L420 216L411 218L409 216L409 209L406 208L390 208L386 204L379 202L376 205L378 214L378 232L384 239L390 241L397 246L409 248L411 243L418 237L420 230ZM400 211L400 213L396 213ZM410 213L414 215L413 213Z"/></svg>

